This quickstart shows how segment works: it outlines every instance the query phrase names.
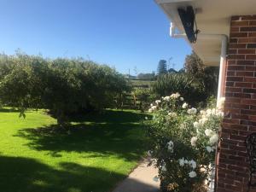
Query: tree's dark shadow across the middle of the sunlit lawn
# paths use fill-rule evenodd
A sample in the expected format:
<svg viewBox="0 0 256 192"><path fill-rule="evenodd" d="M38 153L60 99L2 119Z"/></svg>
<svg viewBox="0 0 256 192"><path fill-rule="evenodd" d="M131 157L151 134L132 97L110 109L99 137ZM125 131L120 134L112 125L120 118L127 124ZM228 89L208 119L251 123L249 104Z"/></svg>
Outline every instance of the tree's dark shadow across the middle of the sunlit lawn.
<svg viewBox="0 0 256 192"><path fill-rule="evenodd" d="M119 112L120 113L120 112ZM84 158L118 155L126 160L139 160L146 146L143 125L135 119L135 113L129 113L129 119L123 119L126 123L110 122L102 123L103 119L94 123L79 123L70 125L68 129L60 129L56 125L48 125L41 128L21 129L16 137L25 137L30 148L36 150L50 150L52 156L58 156L61 151L94 152L84 154ZM106 115L105 115L106 116ZM111 115L107 115L111 116ZM121 115L122 116L122 115ZM119 117L120 118L120 117ZM90 119L87 122L92 122ZM98 123L98 122L101 123ZM110 120L109 120L110 121ZM121 121L119 119L119 121ZM131 122L131 123L127 123Z"/></svg>

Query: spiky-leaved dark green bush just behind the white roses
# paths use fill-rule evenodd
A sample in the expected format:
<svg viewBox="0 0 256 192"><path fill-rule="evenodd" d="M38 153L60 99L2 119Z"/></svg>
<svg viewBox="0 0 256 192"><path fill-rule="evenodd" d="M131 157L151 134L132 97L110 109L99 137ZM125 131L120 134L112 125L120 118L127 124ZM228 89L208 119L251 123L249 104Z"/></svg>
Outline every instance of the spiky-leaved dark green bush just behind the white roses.
<svg viewBox="0 0 256 192"><path fill-rule="evenodd" d="M178 92L192 105L207 98L201 84L187 73L162 75L155 82L153 89L159 96L170 96Z"/></svg>

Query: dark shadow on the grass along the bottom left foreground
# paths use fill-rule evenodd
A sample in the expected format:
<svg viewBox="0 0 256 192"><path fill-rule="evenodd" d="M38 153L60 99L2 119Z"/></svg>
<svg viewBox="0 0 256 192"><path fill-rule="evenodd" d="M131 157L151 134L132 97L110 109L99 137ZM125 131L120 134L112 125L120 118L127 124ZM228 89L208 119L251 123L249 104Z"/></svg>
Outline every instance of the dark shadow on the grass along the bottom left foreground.
<svg viewBox="0 0 256 192"><path fill-rule="evenodd" d="M55 170L37 160L0 156L0 189L4 192L106 192L125 175L75 163Z"/></svg>

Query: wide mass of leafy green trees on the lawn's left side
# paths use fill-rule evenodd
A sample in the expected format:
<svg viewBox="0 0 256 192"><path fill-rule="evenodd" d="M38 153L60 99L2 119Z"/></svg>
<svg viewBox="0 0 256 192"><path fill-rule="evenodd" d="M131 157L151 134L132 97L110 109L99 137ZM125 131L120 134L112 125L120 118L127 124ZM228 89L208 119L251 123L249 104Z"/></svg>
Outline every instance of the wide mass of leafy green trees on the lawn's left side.
<svg viewBox="0 0 256 192"><path fill-rule="evenodd" d="M83 59L0 55L0 101L20 108L49 108L62 124L67 113L101 110L130 90L113 68Z"/></svg>

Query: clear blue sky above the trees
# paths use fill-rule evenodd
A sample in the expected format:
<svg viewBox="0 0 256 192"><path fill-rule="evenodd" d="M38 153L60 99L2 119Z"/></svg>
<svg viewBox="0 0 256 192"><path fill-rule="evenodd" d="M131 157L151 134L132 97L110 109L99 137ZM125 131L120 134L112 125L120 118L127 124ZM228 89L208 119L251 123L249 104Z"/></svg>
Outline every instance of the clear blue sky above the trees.
<svg viewBox="0 0 256 192"><path fill-rule="evenodd" d="M156 71L160 59L183 67L191 52L169 37L169 20L153 0L1 0L0 51L77 57L120 73Z"/></svg>

